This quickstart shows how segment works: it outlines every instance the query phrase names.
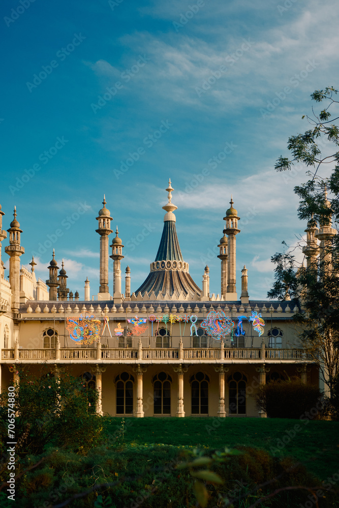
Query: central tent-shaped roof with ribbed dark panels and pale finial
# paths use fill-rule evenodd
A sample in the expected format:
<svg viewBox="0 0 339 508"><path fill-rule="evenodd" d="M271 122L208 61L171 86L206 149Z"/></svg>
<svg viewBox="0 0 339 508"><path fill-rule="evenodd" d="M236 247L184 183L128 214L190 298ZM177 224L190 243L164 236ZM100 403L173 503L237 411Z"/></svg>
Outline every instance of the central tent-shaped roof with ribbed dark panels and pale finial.
<svg viewBox="0 0 339 508"><path fill-rule="evenodd" d="M150 272L146 280L141 284L140 288L135 292L140 292L142 296L147 291L148 296L152 292L156 297L161 293L164 297L166 293L173 299L179 299L180 295L192 297L197 294L201 295L201 290L189 274L189 264L183 261L178 236L175 228L176 217L173 213L177 206L172 203L171 180L168 188L168 203L163 206L166 210L164 217L164 229L160 240L160 245L156 260L150 264Z"/></svg>

